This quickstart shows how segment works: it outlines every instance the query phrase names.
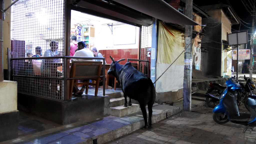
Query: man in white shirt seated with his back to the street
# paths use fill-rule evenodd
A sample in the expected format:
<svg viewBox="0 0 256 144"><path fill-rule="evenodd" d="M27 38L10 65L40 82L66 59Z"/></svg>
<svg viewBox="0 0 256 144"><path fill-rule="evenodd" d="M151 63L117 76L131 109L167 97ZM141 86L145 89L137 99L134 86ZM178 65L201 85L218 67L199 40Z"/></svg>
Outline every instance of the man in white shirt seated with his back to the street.
<svg viewBox="0 0 256 144"><path fill-rule="evenodd" d="M84 42L78 42L77 43L77 51L76 53L73 55L74 57L94 57L93 53L86 48L86 44ZM76 59L76 58L72 58L71 61L94 61L94 59ZM91 81L90 81L91 82ZM83 91L85 90L85 86L83 85L83 87L79 90L76 86L73 87L73 92L74 94L78 94L78 95L82 95ZM89 86L92 87L92 86Z"/></svg>

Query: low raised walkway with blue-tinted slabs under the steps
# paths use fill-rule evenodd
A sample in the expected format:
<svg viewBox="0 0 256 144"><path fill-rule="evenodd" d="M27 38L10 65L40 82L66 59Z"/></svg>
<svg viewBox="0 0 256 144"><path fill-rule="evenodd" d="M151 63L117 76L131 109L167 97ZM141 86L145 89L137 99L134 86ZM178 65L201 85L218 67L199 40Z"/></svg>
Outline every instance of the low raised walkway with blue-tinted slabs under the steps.
<svg viewBox="0 0 256 144"><path fill-rule="evenodd" d="M156 105L153 107L152 123L179 113L177 106ZM39 123L40 124L40 123ZM23 126L23 129L26 130ZM41 122L41 126L45 126ZM26 136L1 142L0 144L13 143L106 143L144 127L142 112L136 112L125 117L106 116L89 123L74 123L64 126L56 125L47 130L42 130ZM24 132L25 133L25 132Z"/></svg>

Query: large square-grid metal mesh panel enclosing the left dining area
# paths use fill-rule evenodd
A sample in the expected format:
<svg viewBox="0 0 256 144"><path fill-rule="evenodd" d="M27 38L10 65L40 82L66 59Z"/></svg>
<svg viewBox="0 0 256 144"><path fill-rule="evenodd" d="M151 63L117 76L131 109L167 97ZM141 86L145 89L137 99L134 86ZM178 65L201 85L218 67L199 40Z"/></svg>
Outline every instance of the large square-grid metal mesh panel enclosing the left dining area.
<svg viewBox="0 0 256 144"><path fill-rule="evenodd" d="M64 99L65 1L18 1L12 9L11 57L18 92ZM29 57L37 57L30 59Z"/></svg>

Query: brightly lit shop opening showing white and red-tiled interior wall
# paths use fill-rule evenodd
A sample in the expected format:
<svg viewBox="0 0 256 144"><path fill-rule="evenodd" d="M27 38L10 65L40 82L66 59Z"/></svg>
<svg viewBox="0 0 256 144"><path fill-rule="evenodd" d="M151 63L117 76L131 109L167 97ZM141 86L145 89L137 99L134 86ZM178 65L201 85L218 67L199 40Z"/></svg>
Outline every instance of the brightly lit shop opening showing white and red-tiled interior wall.
<svg viewBox="0 0 256 144"><path fill-rule="evenodd" d="M125 59L120 64L139 59L140 27L72 10L70 38L73 35L88 49L95 46L106 64L112 62L110 55L115 60Z"/></svg>

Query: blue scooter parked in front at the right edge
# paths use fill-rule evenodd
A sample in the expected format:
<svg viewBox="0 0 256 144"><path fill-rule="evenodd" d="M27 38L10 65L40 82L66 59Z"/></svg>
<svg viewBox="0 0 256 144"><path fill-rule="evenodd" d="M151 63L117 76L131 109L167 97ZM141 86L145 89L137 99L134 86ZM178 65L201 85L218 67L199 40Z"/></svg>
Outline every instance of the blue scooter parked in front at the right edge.
<svg viewBox="0 0 256 144"><path fill-rule="evenodd" d="M234 77L231 77L226 81L226 89L220 96L220 102L212 111L212 118L215 122L218 124L225 124L230 121L248 127L256 126L256 95L250 95L245 103L245 105L249 107L250 114L239 114L239 107L236 99L240 90L241 86L238 80Z"/></svg>

